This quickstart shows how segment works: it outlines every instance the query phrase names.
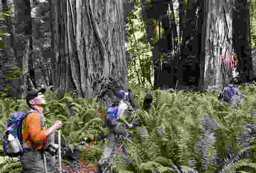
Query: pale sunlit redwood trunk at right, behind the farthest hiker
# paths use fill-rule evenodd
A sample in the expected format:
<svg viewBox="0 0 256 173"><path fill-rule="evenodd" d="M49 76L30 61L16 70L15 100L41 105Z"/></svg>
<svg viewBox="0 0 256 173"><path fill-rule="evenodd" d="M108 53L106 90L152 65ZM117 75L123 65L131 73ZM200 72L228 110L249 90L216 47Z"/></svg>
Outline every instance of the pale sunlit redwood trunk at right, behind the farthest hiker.
<svg viewBox="0 0 256 173"><path fill-rule="evenodd" d="M224 85L220 55L232 54L232 2L227 0L205 0L202 25L202 50L200 53L199 89ZM202 4L201 4L202 5Z"/></svg>

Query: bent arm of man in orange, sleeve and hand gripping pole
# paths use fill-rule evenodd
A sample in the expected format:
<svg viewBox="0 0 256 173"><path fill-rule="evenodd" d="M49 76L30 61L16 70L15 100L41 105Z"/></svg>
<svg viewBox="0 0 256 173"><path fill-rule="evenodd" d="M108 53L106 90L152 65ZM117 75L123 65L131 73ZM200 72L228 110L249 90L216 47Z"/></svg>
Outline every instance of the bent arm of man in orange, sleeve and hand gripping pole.
<svg viewBox="0 0 256 173"><path fill-rule="evenodd" d="M27 116L28 119L28 133L30 134L30 139L38 146L43 145L44 141L46 140L46 136L51 134L54 131L53 127L50 127L47 130L41 130L40 127L40 116L36 113L31 113Z"/></svg>

